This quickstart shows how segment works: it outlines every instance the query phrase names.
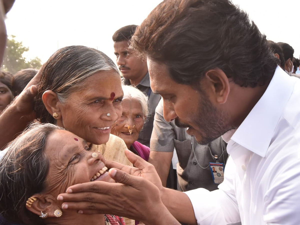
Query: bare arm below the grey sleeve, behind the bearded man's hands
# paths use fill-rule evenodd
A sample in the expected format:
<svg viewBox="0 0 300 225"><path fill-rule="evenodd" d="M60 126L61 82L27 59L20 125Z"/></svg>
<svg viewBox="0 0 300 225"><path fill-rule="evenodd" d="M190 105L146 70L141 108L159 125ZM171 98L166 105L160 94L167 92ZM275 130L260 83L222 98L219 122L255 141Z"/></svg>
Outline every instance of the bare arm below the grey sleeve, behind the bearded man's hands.
<svg viewBox="0 0 300 225"><path fill-rule="evenodd" d="M150 151L148 162L155 167L164 187L167 184L172 157L173 152Z"/></svg>

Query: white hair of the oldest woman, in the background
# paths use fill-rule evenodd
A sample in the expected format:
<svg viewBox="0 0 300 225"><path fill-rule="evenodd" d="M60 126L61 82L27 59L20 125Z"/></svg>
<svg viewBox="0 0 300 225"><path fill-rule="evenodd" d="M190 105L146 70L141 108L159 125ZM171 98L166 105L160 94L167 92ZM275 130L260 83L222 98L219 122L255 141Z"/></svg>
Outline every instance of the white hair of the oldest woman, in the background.
<svg viewBox="0 0 300 225"><path fill-rule="evenodd" d="M148 97L142 91L131 85L122 85L122 89L124 92L123 100L134 99L141 104L143 110L143 117L146 122L149 116Z"/></svg>

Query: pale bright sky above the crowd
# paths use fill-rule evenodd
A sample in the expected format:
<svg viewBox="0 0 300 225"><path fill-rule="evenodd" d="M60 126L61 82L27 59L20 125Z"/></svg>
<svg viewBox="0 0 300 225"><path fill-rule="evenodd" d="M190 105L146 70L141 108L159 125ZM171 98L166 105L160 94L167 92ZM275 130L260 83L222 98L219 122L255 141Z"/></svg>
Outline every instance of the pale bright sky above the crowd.
<svg viewBox="0 0 300 225"><path fill-rule="evenodd" d="M161 0L16 0L7 14L8 35L29 47L28 60L45 62L69 45L96 48L115 61L113 33L140 23ZM300 55L300 0L233 0L269 40L286 42ZM297 23L297 24L296 24ZM298 26L298 28L296 27Z"/></svg>

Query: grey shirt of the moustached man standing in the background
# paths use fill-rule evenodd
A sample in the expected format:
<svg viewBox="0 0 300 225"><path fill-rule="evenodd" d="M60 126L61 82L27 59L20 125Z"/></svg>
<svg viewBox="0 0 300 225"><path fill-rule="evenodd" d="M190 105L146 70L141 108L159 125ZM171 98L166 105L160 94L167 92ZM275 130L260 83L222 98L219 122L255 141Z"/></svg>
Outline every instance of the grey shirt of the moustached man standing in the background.
<svg viewBox="0 0 300 225"><path fill-rule="evenodd" d="M124 85L131 85L129 79L122 78L122 83ZM149 110L149 116L148 121L143 126L142 131L140 132L138 142L142 143L143 145L146 145L150 147L150 138L152 134L153 129L153 120L154 120L154 114L155 114L155 108L161 99L160 95L154 94L150 88L150 77L149 73L147 72L144 78L141 80L141 82L136 86L137 89L140 91L143 91L145 95L149 97L148 99L148 110Z"/></svg>

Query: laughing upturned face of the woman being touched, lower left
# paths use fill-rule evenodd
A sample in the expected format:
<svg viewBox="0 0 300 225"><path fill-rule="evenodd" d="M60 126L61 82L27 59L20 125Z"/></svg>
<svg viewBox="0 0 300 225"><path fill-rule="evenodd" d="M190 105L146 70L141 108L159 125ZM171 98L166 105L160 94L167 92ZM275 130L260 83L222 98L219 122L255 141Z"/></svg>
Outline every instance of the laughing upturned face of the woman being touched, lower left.
<svg viewBox="0 0 300 225"><path fill-rule="evenodd" d="M50 165L45 192L55 196L73 184L93 180L115 182L104 167L105 159L101 153L88 150L86 141L77 135L64 130L52 132L45 146L45 155Z"/></svg>

